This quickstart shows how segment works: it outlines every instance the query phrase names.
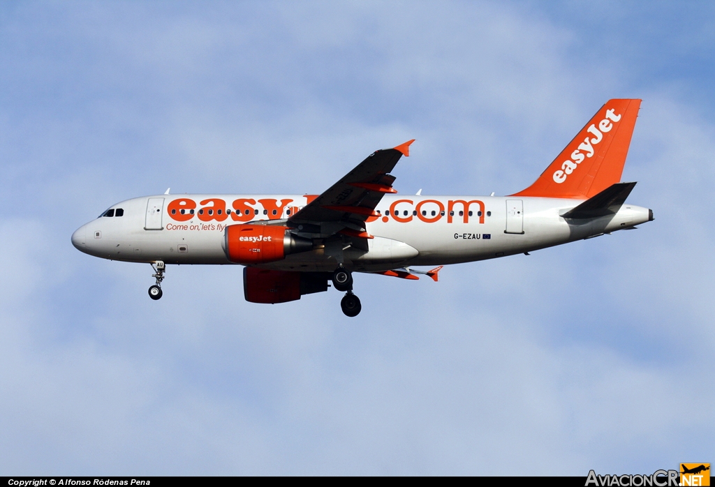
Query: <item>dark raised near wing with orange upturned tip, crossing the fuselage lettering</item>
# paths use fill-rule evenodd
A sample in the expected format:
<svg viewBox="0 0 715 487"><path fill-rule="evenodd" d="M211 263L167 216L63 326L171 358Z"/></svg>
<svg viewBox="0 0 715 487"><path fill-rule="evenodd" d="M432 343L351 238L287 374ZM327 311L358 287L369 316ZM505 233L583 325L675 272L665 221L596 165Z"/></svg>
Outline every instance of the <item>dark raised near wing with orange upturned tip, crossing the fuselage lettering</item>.
<svg viewBox="0 0 715 487"><path fill-rule="evenodd" d="M410 155L410 144L414 141L373 152L340 181L290 216L288 221L293 225L332 227L335 232L347 227L355 232L350 236L372 238L365 234L365 220L377 216L375 207L385 194L397 193L392 187L395 176L388 173L400 157Z"/></svg>

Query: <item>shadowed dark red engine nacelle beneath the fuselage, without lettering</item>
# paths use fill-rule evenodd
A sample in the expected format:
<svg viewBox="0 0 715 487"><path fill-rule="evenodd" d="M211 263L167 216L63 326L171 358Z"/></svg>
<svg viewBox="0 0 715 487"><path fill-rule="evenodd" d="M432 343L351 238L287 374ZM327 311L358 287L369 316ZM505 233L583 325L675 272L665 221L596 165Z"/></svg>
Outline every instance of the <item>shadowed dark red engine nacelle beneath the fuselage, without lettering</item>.
<svg viewBox="0 0 715 487"><path fill-rule="evenodd" d="M243 296L251 303L285 303L303 294L327 291L327 272L271 271L255 267L243 269Z"/></svg>

